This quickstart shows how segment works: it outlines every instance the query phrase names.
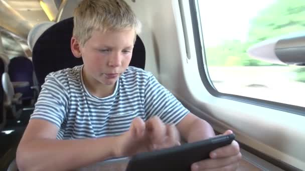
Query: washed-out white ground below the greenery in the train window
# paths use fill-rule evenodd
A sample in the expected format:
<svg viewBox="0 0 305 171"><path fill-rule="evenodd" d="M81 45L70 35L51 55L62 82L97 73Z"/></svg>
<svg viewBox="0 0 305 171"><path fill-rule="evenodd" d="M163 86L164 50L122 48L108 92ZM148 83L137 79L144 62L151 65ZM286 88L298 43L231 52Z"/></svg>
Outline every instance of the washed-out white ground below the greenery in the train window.
<svg viewBox="0 0 305 171"><path fill-rule="evenodd" d="M215 66L209 75L219 92L305 107L305 82L287 66Z"/></svg>

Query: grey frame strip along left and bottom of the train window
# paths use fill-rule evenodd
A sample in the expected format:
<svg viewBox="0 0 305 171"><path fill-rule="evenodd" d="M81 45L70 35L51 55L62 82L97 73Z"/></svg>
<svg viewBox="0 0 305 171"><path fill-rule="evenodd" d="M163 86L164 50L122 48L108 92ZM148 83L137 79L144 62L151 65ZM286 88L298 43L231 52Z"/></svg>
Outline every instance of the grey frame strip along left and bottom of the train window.
<svg viewBox="0 0 305 171"><path fill-rule="evenodd" d="M195 44L195 51L197 56L197 64L199 68L199 74L202 80L202 83L206 87L207 91L219 98L226 98L230 100L240 101L244 103L249 103L253 105L258 105L262 107L272 108L276 110L281 110L293 114L298 114L305 116L305 107L292 105L292 104L286 104L281 102L275 102L270 100L264 100L264 99L258 99L253 97L247 97L247 96L241 96L236 94L228 94L219 92L216 90L216 88L213 86L213 83L211 79L209 78L209 71L206 64L206 53L205 53L205 47L204 47L204 35L202 32L202 29L199 28L201 26L201 20L199 15L199 9L198 9L198 0L189 0L190 4L190 14L191 14L191 21L192 21L192 27L193 27L193 34L194 34L194 44ZM204 69L200 69L204 68ZM305 98L305 97L304 97Z"/></svg>

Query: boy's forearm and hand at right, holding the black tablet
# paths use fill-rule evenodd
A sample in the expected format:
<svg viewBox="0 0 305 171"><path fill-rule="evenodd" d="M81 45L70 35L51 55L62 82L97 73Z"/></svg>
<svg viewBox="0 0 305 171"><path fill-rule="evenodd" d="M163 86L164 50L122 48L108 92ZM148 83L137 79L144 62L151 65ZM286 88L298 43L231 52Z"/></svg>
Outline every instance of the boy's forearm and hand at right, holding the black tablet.
<svg viewBox="0 0 305 171"><path fill-rule="evenodd" d="M215 136L212 126L193 113L188 113L178 124L181 135L188 141L194 142ZM227 130L224 134L232 133ZM211 159L205 159L192 164L192 171L205 169L236 170L241 153L238 143L233 140L230 145L217 148L210 152Z"/></svg>

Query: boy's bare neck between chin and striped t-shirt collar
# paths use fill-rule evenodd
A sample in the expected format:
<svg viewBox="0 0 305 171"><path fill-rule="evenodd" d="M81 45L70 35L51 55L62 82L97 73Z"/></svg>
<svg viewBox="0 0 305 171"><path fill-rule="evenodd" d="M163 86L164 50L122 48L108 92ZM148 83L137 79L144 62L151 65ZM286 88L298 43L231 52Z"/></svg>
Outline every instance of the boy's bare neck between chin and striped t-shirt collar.
<svg viewBox="0 0 305 171"><path fill-rule="evenodd" d="M82 69L82 77L83 77L83 82L84 82L85 88L88 90L88 92L90 94L92 94L94 96L97 96L100 98L106 97L106 96L111 95L115 89L116 83L113 85L101 84L101 83L97 82L96 80L93 80L92 78L87 76L83 69Z"/></svg>

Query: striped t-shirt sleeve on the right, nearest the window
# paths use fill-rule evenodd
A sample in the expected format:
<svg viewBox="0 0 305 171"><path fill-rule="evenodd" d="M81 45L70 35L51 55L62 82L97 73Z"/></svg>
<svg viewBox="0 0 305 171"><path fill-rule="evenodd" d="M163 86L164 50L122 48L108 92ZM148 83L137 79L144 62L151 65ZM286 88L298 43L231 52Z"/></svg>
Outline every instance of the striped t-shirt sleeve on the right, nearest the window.
<svg viewBox="0 0 305 171"><path fill-rule="evenodd" d="M154 75L145 84L146 118L157 115L164 123L178 124L190 111Z"/></svg>

